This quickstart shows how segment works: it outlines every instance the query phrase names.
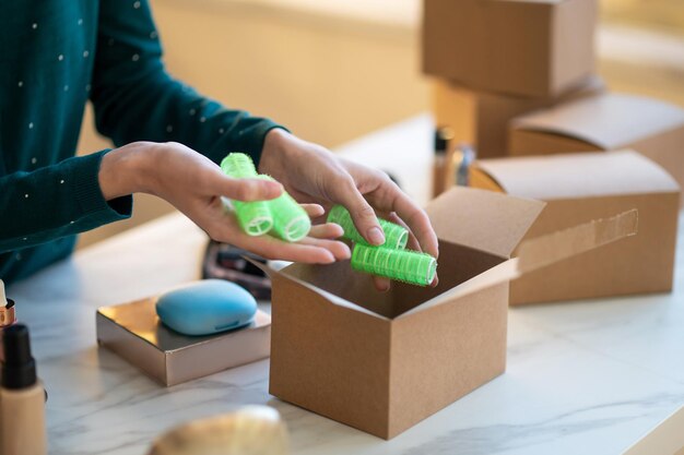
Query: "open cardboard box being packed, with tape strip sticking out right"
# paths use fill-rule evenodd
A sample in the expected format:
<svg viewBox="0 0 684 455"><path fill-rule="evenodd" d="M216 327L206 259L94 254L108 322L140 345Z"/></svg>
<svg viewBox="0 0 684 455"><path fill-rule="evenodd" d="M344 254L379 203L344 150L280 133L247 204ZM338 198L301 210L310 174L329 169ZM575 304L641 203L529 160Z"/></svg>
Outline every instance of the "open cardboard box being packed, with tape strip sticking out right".
<svg viewBox="0 0 684 455"><path fill-rule="evenodd" d="M264 267L273 284L269 392L390 439L502 374L508 280L636 228L630 212L535 239L508 260L543 205L468 188L434 200L436 288L378 292L347 262Z"/></svg>

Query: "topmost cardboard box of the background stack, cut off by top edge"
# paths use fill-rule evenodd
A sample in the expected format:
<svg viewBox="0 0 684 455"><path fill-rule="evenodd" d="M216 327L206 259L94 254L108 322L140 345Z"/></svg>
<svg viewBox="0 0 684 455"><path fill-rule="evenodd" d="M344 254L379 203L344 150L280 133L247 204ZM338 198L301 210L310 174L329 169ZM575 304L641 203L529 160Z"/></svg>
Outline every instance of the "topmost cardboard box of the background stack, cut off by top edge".
<svg viewBox="0 0 684 455"><path fill-rule="evenodd" d="M593 74L597 0L424 0L423 71L550 97Z"/></svg>

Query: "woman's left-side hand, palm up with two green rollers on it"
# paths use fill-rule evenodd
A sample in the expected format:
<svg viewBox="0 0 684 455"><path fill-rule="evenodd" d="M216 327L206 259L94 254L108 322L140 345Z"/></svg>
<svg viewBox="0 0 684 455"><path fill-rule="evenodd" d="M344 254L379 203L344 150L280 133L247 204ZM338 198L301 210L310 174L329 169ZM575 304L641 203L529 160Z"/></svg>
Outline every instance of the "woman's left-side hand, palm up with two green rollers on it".
<svg viewBox="0 0 684 455"><path fill-rule="evenodd" d="M314 226L309 237L287 243L271 236L243 232L221 196L237 201L278 197L283 187L273 181L232 179L205 156L182 144L134 142L107 153L99 168L99 187L105 200L143 192L169 202L212 239L231 243L267 259L328 264L349 259L339 226ZM323 215L317 204L303 205L310 217Z"/></svg>

